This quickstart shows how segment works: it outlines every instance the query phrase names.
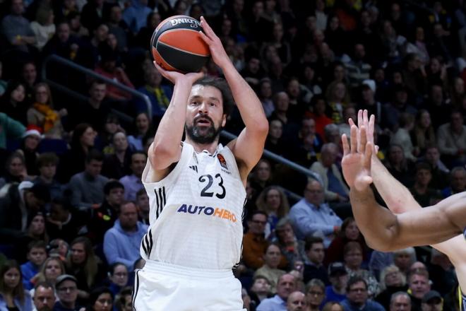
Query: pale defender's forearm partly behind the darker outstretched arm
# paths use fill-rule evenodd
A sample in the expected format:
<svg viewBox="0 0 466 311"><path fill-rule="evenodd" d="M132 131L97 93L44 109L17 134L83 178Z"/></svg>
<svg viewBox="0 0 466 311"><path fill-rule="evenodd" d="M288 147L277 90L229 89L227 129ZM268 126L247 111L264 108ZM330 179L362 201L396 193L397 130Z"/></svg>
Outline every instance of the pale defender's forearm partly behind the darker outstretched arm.
<svg viewBox="0 0 466 311"><path fill-rule="evenodd" d="M381 194L383 201L393 213L404 213L413 209L420 209L421 206L401 182L398 182L393 175L388 172L385 165L376 156L371 160L372 180Z"/></svg>

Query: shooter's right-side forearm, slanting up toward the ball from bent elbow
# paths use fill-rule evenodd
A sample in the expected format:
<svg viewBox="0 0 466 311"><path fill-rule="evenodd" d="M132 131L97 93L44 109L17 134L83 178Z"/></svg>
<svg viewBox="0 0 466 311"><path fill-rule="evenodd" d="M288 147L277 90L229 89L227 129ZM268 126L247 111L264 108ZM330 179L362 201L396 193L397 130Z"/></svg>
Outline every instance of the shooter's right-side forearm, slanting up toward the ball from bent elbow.
<svg viewBox="0 0 466 311"><path fill-rule="evenodd" d="M222 66L223 74L232 90L234 101L237 104L241 119L248 131L268 132L268 121L265 117L261 100L244 78L234 68L231 61Z"/></svg>

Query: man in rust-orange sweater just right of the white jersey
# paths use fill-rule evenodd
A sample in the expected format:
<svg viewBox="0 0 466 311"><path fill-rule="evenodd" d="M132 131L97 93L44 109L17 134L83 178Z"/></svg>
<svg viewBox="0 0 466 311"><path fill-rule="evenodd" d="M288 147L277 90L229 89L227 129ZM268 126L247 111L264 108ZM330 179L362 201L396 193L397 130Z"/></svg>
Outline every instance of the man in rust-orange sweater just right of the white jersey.
<svg viewBox="0 0 466 311"><path fill-rule="evenodd" d="M259 269L264 264L265 250L268 241L265 240L265 224L267 214L263 211L255 211L248 221L249 230L243 236L243 263L250 269Z"/></svg>

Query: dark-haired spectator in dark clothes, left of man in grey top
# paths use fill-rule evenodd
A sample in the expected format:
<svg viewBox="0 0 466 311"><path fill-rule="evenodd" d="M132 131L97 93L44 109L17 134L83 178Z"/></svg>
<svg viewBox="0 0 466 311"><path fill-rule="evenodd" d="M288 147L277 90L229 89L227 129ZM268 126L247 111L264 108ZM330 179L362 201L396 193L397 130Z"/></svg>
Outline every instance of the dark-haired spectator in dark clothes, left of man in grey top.
<svg viewBox="0 0 466 311"><path fill-rule="evenodd" d="M33 180L34 184L42 184L49 189L52 199L61 196L62 185L55 180L56 166L59 158L55 153L42 153L37 157L36 167L39 175Z"/></svg>

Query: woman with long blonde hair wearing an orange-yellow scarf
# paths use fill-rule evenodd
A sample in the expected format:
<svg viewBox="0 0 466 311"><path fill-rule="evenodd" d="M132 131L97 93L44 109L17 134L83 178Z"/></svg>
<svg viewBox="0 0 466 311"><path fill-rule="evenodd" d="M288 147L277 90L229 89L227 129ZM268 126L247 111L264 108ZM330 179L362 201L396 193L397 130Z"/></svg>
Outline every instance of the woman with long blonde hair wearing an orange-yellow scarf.
<svg viewBox="0 0 466 311"><path fill-rule="evenodd" d="M28 110L28 124L40 127L47 138L61 139L64 134L61 117L68 115L66 109L54 110L52 93L47 83L34 87L35 103Z"/></svg>

